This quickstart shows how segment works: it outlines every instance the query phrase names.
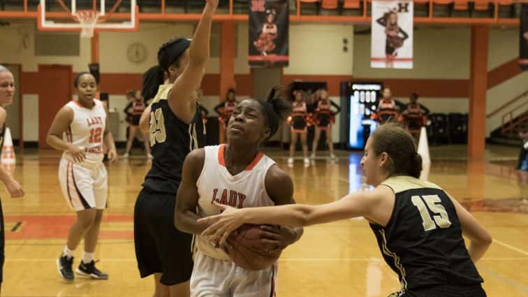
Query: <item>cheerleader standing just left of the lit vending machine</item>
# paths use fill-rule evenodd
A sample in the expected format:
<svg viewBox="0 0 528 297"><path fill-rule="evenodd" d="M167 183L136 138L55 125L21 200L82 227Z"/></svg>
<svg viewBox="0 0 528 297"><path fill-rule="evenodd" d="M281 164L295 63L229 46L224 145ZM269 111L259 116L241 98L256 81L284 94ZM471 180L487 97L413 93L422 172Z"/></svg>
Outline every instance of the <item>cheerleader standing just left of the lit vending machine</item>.
<svg viewBox="0 0 528 297"><path fill-rule="evenodd" d="M321 131L325 131L328 149L330 150L330 158L335 159L334 143L332 142L332 125L335 122L335 115L341 111L341 108L328 98L328 89L319 90L319 101L315 105L316 113L314 119L317 128L315 129L314 143L311 145L311 159L315 159L316 157ZM330 110L331 106L334 106L336 111Z"/></svg>

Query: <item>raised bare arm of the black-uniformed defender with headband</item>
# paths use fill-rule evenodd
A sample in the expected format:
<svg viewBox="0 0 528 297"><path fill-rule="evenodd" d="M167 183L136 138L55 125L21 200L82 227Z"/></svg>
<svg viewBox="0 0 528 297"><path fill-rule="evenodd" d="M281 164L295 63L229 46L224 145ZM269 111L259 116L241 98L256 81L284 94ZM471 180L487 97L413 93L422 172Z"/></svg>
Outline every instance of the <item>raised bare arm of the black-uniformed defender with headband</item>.
<svg viewBox="0 0 528 297"><path fill-rule="evenodd" d="M182 121L190 123L196 113L195 96L198 85L205 72L205 63L209 59L211 23L219 0L207 0L202 17L194 33L189 48L189 64L174 82L172 92L168 94L170 110Z"/></svg>

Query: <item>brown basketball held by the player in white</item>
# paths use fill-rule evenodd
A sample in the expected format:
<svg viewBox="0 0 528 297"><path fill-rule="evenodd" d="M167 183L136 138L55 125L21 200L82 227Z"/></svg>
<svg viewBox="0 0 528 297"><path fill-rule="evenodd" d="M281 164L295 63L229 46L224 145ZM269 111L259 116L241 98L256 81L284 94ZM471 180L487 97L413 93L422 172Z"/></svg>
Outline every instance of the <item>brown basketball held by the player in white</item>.
<svg viewBox="0 0 528 297"><path fill-rule="evenodd" d="M244 224L229 235L230 248L226 252L237 266L261 270L272 266L281 256L282 249L261 242L260 231L261 225Z"/></svg>

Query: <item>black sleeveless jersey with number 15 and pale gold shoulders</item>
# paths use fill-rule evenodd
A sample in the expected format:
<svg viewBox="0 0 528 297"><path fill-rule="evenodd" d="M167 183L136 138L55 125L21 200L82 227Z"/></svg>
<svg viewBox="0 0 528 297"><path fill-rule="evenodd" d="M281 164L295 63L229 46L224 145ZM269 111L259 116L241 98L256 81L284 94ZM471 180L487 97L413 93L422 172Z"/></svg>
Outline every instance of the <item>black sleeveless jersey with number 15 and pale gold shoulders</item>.
<svg viewBox="0 0 528 297"><path fill-rule="evenodd" d="M483 282L469 257L455 205L436 184L410 176L381 184L395 192L387 226L370 224L404 290ZM456 295L455 295L456 296Z"/></svg>

